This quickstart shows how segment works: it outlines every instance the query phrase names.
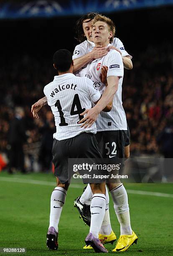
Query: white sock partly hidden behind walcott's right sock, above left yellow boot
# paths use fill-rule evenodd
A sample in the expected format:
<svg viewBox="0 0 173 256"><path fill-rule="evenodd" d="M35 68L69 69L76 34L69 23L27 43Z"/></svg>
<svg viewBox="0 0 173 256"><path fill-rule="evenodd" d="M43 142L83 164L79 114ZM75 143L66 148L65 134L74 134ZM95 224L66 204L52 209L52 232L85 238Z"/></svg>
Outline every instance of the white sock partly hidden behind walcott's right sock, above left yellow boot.
<svg viewBox="0 0 173 256"><path fill-rule="evenodd" d="M105 210L102 226L100 229L100 234L109 236L111 232L112 232L112 227L111 227L110 216L109 216L109 193L106 187L106 210Z"/></svg>

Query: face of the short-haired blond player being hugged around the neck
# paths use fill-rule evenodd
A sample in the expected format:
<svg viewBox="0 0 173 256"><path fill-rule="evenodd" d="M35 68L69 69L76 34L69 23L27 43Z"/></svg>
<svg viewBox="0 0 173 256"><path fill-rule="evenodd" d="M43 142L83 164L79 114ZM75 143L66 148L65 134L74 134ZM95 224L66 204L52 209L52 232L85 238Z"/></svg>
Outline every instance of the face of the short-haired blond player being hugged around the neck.
<svg viewBox="0 0 173 256"><path fill-rule="evenodd" d="M111 37L112 32L109 32L107 23L97 21L92 27L92 38L95 45L107 46Z"/></svg>

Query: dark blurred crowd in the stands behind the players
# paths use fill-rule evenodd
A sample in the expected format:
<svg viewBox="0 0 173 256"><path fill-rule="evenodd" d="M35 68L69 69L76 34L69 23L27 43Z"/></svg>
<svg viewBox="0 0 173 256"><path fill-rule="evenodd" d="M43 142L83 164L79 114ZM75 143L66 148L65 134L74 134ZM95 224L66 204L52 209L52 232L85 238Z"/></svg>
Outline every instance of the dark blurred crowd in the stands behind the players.
<svg viewBox="0 0 173 256"><path fill-rule="evenodd" d="M157 31L160 31L160 12L159 9L158 23L155 22L152 27L157 27ZM145 17L147 13L151 22L152 11L145 10L141 16ZM108 16L118 24L121 15L123 14L118 14L117 19L113 15ZM132 13L128 15L131 17ZM72 30L77 18L79 17L73 18L70 24L70 19L66 20L64 27L59 26L61 20L49 20L48 28L52 24L57 25L51 26L51 35L48 28L44 31L45 21L34 23L31 20L27 24L18 21L16 25L9 21L5 23L2 33L8 40L6 50L1 48L0 63L0 169L8 168L12 172L8 164L11 160L19 166L21 172L52 170L54 118L51 109L45 106L39 113L39 120L34 120L31 105L44 97L43 87L55 75L53 52L60 48L73 52L74 46L78 44L73 39ZM33 24L37 24L35 28ZM118 27L117 37L133 56L133 69L125 70L122 91L123 106L131 133L130 155L172 158L173 44L167 34L155 38L152 33L158 32L152 32L151 29L150 34L146 35L149 27L147 22L146 28L143 25L141 34L136 34L140 26L134 32L131 29L131 34L135 33L133 40L130 32L127 33L128 28L125 30L123 27L124 24ZM130 24L129 27L132 28ZM2 28L2 23L0 26ZM9 28L12 38L8 35ZM65 35L62 35L63 29ZM5 43L5 39L3 40ZM18 154L11 154L12 150L18 151ZM23 154L24 162L21 161Z"/></svg>

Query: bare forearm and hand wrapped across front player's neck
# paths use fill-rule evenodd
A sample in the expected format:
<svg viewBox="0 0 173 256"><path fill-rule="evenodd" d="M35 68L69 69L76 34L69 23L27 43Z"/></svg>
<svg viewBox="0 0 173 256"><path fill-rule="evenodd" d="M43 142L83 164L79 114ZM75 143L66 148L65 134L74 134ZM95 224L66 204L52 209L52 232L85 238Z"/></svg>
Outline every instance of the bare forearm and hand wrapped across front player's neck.
<svg viewBox="0 0 173 256"><path fill-rule="evenodd" d="M92 59L102 58L108 53L108 51L110 50L107 47L102 47L101 45L95 46L91 52L73 60L73 63L74 63L73 71L76 72L77 70L81 69L81 67L84 67L84 65L87 64Z"/></svg>

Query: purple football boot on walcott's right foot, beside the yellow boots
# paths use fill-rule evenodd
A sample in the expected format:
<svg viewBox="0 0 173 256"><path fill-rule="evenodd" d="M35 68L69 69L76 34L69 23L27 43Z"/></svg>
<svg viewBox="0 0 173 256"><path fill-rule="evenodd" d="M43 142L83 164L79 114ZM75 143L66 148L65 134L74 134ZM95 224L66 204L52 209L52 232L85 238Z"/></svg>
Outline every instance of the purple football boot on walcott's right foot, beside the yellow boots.
<svg viewBox="0 0 173 256"><path fill-rule="evenodd" d="M89 233L85 238L86 246L90 245L95 252L108 253L107 249L104 248L102 243L99 241L99 238L95 238L92 233Z"/></svg>

